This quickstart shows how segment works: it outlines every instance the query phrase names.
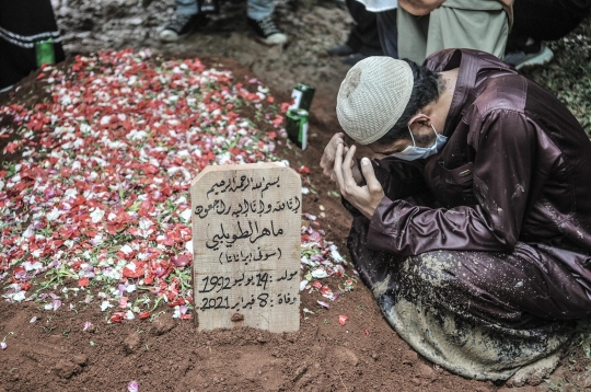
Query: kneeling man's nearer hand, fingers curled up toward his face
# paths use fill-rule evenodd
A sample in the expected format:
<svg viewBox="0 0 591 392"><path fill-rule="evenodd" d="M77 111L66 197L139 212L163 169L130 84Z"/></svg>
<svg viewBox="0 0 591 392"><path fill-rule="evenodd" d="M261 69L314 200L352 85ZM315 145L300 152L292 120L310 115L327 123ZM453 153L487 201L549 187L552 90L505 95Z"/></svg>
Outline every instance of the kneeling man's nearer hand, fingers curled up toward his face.
<svg viewBox="0 0 591 392"><path fill-rule="evenodd" d="M345 160L343 160L344 148L343 145L337 146L334 164L334 173L337 184L340 187L340 194L368 219L371 219L373 211L375 211L375 208L378 208L378 205L384 197L384 189L378 178L375 178L373 166L368 158L361 160L361 172L368 185L357 185L351 172L351 162L356 148L351 146Z"/></svg>

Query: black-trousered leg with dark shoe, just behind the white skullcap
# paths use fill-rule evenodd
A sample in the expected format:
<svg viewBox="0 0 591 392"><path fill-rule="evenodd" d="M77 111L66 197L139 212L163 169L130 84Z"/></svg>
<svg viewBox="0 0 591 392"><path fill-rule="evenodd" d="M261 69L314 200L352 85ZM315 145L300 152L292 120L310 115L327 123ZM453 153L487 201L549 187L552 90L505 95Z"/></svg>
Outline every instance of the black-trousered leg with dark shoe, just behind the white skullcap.
<svg viewBox="0 0 591 392"><path fill-rule="evenodd" d="M355 25L349 32L347 42L331 47L327 50L328 56L347 57L343 62L351 66L366 57L381 56L383 53L375 13L366 10L366 5L356 0L346 0L346 3Z"/></svg>

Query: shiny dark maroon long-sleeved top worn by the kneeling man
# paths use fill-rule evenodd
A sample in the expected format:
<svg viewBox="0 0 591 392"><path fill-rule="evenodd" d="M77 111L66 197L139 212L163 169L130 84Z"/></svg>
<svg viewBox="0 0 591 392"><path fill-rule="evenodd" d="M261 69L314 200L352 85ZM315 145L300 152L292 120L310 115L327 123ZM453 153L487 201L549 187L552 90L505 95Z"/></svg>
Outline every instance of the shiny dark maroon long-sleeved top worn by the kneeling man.
<svg viewBox="0 0 591 392"><path fill-rule="evenodd" d="M577 119L491 55L449 49L425 65L438 72L460 67L443 129L449 140L424 170L442 208L391 199L395 184L381 181L386 197L369 226L368 249L505 252L549 269L560 263L590 303L591 142ZM395 162L378 164L387 171Z"/></svg>

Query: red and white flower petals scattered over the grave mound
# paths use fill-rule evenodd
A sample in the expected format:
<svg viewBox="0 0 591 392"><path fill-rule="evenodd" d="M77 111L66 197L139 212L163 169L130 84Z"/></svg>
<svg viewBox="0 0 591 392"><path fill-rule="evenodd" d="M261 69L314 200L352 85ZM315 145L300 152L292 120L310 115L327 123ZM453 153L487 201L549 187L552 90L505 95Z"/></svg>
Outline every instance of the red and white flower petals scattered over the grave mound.
<svg viewBox="0 0 591 392"><path fill-rule="evenodd" d="M0 166L2 297L47 311L94 303L112 323L150 319L164 303L190 319L190 181L209 164L279 161L287 104L256 79L149 50L77 56L46 66L36 83L45 99L0 108L12 123L0 136L19 136L2 153L22 157ZM306 215L300 288L336 275L339 291L352 289L324 235Z"/></svg>

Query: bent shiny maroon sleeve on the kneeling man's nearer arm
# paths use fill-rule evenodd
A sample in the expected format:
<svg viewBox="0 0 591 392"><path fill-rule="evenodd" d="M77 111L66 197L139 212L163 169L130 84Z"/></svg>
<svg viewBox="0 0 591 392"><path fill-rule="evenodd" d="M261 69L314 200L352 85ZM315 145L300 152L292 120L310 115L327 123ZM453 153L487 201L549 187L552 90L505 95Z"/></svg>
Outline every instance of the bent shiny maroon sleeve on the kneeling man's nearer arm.
<svg viewBox="0 0 591 392"><path fill-rule="evenodd" d="M370 223L369 249L401 255L513 250L531 197L535 130L512 111L472 117L468 143L476 151L473 193L478 205L432 209L384 197Z"/></svg>

